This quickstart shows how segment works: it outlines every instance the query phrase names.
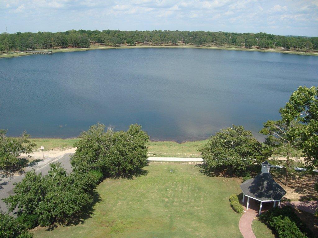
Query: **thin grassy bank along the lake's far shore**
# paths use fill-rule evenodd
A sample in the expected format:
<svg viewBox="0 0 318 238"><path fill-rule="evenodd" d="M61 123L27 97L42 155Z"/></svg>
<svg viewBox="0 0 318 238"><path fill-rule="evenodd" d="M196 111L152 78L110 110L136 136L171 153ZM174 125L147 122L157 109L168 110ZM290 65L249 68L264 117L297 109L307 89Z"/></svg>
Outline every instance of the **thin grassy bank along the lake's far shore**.
<svg viewBox="0 0 318 238"><path fill-rule="evenodd" d="M91 45L89 48L67 48L67 49L52 49L53 52L72 52L72 51L83 51L83 50L96 50L96 49L131 49L131 48L196 48L196 49L211 49L211 50L245 50L245 51L260 51L260 52L276 52L276 53L285 53L285 54L296 54L296 55L311 55L318 56L318 53L315 52L303 52L303 51L286 51L281 49L258 49L254 48L237 48L234 46L226 46L226 47L217 47L215 45L205 45L205 46L194 46L194 45L186 45L183 43L179 43L177 45L144 45L144 44L136 44L135 46L102 46L102 45ZM17 56L25 56L31 55L29 53L19 52L19 53L9 53L0 55L0 58L4 57L17 57Z"/></svg>

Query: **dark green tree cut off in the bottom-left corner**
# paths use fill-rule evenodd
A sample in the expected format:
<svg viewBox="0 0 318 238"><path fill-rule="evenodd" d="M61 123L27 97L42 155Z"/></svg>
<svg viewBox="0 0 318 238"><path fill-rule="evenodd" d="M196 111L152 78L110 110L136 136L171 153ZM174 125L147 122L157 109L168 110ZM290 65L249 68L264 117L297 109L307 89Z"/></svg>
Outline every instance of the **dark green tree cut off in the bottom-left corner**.
<svg viewBox="0 0 318 238"><path fill-rule="evenodd" d="M0 212L0 237L1 238L32 238L22 224L8 214Z"/></svg>

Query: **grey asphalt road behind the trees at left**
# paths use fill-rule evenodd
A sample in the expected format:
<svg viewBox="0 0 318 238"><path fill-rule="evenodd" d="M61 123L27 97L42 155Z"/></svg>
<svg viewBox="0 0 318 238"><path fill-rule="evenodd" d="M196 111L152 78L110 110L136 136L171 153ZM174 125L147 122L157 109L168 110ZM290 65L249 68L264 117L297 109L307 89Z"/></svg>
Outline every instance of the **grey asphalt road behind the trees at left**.
<svg viewBox="0 0 318 238"><path fill-rule="evenodd" d="M45 158L44 160L38 161L37 163L25 168L25 171L34 169L37 174L42 173L46 175L50 170L50 163L60 162L67 172L72 171L72 166L70 163L70 155L66 154L56 158ZM21 175L14 176L1 176L0 177L0 210L3 212L8 212L7 205L2 201L3 198L7 198L9 195L13 194L14 183L20 182L24 178L24 173Z"/></svg>

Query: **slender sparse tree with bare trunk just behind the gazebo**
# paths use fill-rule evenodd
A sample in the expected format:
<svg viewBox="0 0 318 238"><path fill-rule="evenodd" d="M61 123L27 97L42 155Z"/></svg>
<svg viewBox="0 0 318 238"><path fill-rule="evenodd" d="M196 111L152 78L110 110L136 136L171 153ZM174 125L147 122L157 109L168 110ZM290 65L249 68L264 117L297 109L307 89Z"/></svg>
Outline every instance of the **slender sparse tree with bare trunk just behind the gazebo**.
<svg viewBox="0 0 318 238"><path fill-rule="evenodd" d="M297 156L297 149L299 148L299 141L294 138L293 130L301 127L295 121L288 125L283 121L267 121L264 123L264 128L260 131L266 137L266 149L271 151L271 154L282 155L286 158L283 164L286 169L285 185L288 185L289 175L295 171L294 160L290 157Z"/></svg>

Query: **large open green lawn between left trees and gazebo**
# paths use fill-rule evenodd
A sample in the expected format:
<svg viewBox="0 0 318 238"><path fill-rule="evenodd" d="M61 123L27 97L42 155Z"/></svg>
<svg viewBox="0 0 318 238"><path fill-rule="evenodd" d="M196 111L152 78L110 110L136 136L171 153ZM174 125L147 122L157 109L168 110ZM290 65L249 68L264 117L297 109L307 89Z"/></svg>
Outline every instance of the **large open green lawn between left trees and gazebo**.
<svg viewBox="0 0 318 238"><path fill-rule="evenodd" d="M35 228L34 237L92 238L242 238L241 214L228 197L240 181L208 177L195 164L151 162L148 174L106 179L96 191L100 201L83 224L51 231Z"/></svg>

